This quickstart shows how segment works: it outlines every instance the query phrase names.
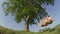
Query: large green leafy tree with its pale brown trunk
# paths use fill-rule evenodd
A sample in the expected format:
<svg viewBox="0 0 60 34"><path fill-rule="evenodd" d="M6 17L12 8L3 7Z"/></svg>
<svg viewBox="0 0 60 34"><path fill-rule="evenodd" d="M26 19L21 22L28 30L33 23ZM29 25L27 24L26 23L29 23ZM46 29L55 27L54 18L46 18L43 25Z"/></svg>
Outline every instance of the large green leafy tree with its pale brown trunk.
<svg viewBox="0 0 60 34"><path fill-rule="evenodd" d="M14 16L17 23L25 21L24 31L29 31L29 24L48 15L43 5L54 5L54 0L7 0L3 3L6 15Z"/></svg>

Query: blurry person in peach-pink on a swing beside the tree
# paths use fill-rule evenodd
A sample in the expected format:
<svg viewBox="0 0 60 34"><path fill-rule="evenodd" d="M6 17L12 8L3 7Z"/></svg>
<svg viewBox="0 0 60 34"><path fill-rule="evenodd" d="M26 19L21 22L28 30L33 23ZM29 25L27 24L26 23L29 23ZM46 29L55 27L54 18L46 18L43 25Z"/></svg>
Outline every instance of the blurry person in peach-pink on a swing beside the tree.
<svg viewBox="0 0 60 34"><path fill-rule="evenodd" d="M51 24L52 22L53 22L52 17L46 16L38 23L38 25L44 27Z"/></svg>

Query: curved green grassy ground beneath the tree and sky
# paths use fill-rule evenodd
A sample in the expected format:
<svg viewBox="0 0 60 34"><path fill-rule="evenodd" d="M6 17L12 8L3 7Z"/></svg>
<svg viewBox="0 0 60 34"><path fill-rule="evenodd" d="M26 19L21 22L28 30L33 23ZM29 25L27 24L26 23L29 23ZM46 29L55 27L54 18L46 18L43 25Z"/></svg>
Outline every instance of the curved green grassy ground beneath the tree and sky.
<svg viewBox="0 0 60 34"><path fill-rule="evenodd" d="M45 32L25 32L0 26L0 34L60 34L60 25L57 25L53 31L47 30Z"/></svg>

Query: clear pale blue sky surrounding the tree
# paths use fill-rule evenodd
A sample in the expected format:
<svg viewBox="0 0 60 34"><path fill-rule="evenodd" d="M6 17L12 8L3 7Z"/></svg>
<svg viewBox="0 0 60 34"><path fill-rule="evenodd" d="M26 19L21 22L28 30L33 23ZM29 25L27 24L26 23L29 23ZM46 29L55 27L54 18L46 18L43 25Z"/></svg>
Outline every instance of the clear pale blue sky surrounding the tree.
<svg viewBox="0 0 60 34"><path fill-rule="evenodd" d="M5 0L0 0L0 26L9 28L9 29L14 29L14 30L23 30L24 29L24 23L23 21L21 23L16 23L16 21L14 20L14 17L9 15L9 16L5 16L4 14L4 10L2 8L2 3ZM55 4L54 6L48 5L46 6L46 11L49 13L50 16L53 17L54 21L52 24L46 26L46 27L50 27L53 28L56 25L60 24L60 0L55 0ZM42 28L45 27L41 27L38 25L32 25L29 26L30 31L33 32L37 32Z"/></svg>

